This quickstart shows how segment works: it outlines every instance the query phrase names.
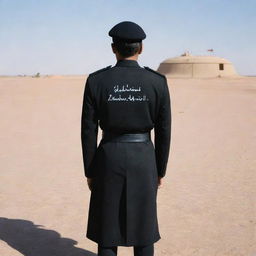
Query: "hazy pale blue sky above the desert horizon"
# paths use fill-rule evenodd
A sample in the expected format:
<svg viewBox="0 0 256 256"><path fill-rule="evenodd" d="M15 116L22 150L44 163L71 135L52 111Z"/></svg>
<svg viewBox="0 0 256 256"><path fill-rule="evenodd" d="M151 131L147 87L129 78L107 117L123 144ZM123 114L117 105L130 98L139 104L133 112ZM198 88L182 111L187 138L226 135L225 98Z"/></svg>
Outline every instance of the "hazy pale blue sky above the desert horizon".
<svg viewBox="0 0 256 256"><path fill-rule="evenodd" d="M108 31L125 20L147 34L141 66L157 69L188 50L256 75L255 13L255 0L0 0L0 75L88 74L114 65Z"/></svg>

